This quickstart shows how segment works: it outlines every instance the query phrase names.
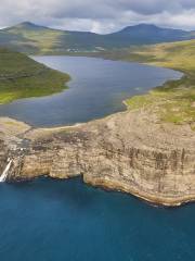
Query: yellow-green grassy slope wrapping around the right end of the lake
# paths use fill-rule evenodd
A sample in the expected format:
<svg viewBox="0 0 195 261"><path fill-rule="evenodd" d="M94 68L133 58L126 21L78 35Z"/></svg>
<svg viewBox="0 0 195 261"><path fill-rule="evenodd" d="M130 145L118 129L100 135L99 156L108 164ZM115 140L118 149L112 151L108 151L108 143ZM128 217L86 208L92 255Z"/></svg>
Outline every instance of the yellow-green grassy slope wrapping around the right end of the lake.
<svg viewBox="0 0 195 261"><path fill-rule="evenodd" d="M132 48L118 53L119 57L183 72L185 76L182 79L168 82L126 103L130 109L152 108L162 121L187 122L195 128L195 40Z"/></svg>

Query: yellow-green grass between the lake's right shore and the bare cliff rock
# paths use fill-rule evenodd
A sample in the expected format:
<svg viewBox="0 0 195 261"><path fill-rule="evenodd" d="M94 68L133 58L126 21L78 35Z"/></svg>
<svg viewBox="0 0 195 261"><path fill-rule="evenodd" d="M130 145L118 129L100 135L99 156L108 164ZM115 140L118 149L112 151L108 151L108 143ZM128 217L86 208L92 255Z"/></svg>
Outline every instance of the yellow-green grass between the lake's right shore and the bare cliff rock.
<svg viewBox="0 0 195 261"><path fill-rule="evenodd" d="M182 80L168 82L146 95L135 96L126 101L130 110L151 109L161 121L176 124L195 122L195 85L185 87Z"/></svg>

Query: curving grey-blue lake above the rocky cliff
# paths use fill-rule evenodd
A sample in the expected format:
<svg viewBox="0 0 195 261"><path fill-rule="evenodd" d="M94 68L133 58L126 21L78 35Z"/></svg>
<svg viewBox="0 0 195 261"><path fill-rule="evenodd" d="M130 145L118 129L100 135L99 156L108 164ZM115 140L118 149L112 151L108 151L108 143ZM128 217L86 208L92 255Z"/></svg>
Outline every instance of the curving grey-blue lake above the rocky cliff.
<svg viewBox="0 0 195 261"><path fill-rule="evenodd" d="M181 73L138 63L78 57L35 57L36 61L67 72L69 89L0 105L0 116L10 116L32 126L58 126L88 122L123 111L122 101L146 92Z"/></svg>

